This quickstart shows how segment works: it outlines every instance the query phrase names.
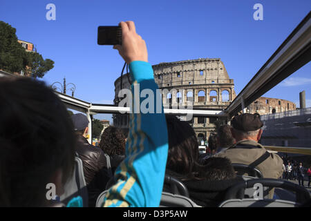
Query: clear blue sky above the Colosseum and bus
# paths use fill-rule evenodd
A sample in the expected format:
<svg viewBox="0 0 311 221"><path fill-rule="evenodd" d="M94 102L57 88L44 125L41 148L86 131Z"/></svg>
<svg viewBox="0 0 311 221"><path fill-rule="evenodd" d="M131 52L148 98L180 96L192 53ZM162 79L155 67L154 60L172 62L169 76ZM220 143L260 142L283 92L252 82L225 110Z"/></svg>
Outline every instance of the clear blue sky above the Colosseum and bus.
<svg viewBox="0 0 311 221"><path fill-rule="evenodd" d="M46 5L56 6L56 21L46 19ZM255 3L263 5L263 21L255 21ZM149 62L220 58L238 94L290 32L310 12L311 1L20 1L1 0L0 20L17 29L44 58L55 61L44 81L77 86L75 97L109 103L123 61L112 46L97 45L97 26L135 21L147 42ZM310 63L265 96L299 105L305 89L311 106ZM96 116L95 116L96 117Z"/></svg>

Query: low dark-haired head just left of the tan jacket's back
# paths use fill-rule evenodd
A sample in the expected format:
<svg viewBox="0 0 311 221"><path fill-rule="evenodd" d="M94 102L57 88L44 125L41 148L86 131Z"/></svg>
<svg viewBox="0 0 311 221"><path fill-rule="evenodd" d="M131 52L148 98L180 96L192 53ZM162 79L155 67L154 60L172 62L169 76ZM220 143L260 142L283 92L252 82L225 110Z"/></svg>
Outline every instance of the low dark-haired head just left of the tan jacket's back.
<svg viewBox="0 0 311 221"><path fill-rule="evenodd" d="M236 177L231 161L226 157L209 157L205 160L205 169L200 171L205 180L232 180Z"/></svg>

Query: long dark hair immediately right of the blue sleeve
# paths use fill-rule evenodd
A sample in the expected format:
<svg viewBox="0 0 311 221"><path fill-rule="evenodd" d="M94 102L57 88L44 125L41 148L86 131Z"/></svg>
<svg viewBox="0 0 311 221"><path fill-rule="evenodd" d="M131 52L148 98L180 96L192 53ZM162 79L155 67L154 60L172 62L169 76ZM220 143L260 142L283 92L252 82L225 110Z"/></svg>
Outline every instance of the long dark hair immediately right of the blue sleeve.
<svg viewBox="0 0 311 221"><path fill-rule="evenodd" d="M189 180L198 166L198 139L194 129L173 115L166 115L169 136L167 169L183 175L181 180Z"/></svg>

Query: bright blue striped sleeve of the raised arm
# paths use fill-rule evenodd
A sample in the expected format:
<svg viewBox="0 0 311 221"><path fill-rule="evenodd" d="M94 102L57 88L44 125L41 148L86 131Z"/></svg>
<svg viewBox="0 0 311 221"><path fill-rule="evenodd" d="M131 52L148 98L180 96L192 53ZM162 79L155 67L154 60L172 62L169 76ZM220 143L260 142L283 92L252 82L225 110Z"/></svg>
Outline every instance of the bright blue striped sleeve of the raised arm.
<svg viewBox="0 0 311 221"><path fill-rule="evenodd" d="M133 61L129 68L133 79L132 105L146 104L146 100L152 98L152 95L140 97L144 90L153 93L153 99L149 99L147 107L153 107L154 110L149 109L149 113L133 113L135 108L132 108L126 159L115 171L117 183L109 189L104 206L157 207L160 204L167 163L167 124L163 108L161 107L160 113L156 111L158 85L153 79L151 65L144 61ZM160 105L162 106L162 102Z"/></svg>

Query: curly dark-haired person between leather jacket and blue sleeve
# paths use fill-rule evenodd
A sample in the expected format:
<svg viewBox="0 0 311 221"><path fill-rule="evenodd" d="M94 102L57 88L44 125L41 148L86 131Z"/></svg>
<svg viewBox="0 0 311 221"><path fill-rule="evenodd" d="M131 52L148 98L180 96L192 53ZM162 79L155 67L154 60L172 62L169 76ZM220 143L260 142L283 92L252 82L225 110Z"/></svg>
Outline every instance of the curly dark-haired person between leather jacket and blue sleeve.
<svg viewBox="0 0 311 221"><path fill-rule="evenodd" d="M99 147L109 155L112 173L125 158L125 142L124 133L115 126L107 127L100 137Z"/></svg>

